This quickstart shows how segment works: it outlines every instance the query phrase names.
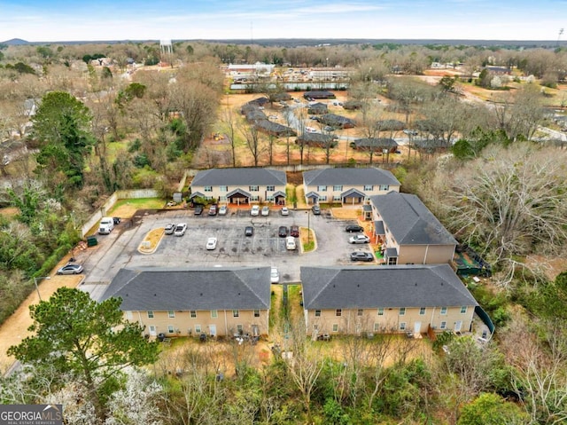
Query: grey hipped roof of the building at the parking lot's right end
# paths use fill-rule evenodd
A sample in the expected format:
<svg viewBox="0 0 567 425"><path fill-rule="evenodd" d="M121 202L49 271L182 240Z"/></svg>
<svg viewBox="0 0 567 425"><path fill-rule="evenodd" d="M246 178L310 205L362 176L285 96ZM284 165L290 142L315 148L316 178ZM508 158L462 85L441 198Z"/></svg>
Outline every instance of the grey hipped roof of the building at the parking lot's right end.
<svg viewBox="0 0 567 425"><path fill-rule="evenodd" d="M370 196L370 202L400 245L457 244L416 195L392 191Z"/></svg>

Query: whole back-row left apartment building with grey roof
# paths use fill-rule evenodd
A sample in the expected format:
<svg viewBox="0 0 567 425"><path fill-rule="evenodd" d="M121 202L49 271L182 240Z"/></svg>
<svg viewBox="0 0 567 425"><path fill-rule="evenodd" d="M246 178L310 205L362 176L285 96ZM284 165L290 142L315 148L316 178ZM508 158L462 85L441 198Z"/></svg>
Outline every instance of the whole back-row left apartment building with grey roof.
<svg viewBox="0 0 567 425"><path fill-rule="evenodd" d="M206 169L199 171L190 184L190 199L205 198L221 203L285 204L285 172L266 168Z"/></svg>

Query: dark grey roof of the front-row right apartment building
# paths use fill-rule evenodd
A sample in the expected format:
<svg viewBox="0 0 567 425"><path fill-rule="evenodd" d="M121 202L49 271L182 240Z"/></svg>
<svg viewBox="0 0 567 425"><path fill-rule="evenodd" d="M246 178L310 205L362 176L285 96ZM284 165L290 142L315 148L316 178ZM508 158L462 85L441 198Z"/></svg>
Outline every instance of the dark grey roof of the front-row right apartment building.
<svg viewBox="0 0 567 425"><path fill-rule="evenodd" d="M478 305L449 264L301 267L301 284L307 310Z"/></svg>

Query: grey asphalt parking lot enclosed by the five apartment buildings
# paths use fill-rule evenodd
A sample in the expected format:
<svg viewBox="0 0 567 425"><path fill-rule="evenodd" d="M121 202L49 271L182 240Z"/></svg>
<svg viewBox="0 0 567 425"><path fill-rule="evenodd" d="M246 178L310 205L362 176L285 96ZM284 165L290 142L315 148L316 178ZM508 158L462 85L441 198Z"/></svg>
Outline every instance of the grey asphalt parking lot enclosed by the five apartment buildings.
<svg viewBox="0 0 567 425"><path fill-rule="evenodd" d="M141 254L137 248L147 232L168 223L186 223L183 236L164 235L152 254ZM97 235L97 247L88 248L79 258L85 268L85 286L101 285L104 292L122 267L219 267L276 266L281 282L299 281L299 269L306 265L351 265L354 250L369 246L351 245L345 232L352 220L338 220L322 210L314 216L311 210L290 210L289 216L270 211L269 216L250 216L248 209L230 210L227 216L194 216L192 209L176 209L140 213L133 220L123 220L110 235ZM278 237L279 226L289 230L292 224L309 226L315 232L315 251L302 253L287 250L285 238ZM245 236L245 227L253 227L253 235ZM206 240L216 237L214 250L206 249ZM87 290L89 290L86 287Z"/></svg>

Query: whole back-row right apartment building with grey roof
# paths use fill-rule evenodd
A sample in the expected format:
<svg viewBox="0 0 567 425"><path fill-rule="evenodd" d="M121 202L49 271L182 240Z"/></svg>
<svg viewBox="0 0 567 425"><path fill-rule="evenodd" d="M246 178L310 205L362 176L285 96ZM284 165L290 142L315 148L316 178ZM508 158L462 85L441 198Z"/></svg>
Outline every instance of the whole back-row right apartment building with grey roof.
<svg viewBox="0 0 567 425"><path fill-rule="evenodd" d="M340 202L357 205L370 196L400 191L400 182L385 169L313 169L303 173L307 204Z"/></svg>

